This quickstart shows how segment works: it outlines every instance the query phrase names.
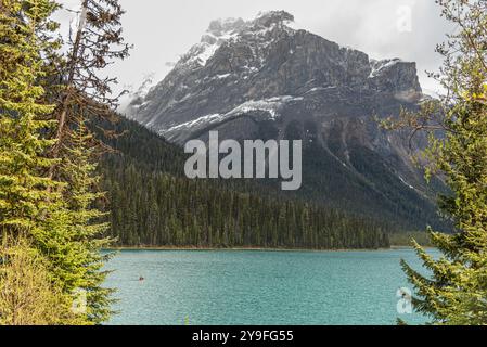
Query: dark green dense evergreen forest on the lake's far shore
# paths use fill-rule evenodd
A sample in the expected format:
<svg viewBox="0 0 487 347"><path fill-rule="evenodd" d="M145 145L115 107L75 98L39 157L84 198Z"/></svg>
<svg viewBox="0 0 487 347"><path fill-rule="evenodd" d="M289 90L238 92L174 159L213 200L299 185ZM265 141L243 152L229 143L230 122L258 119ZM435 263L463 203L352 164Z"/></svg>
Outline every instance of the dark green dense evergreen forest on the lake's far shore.
<svg viewBox="0 0 487 347"><path fill-rule="evenodd" d="M106 124L104 125L104 127ZM104 141L100 170L119 246L379 248L390 226L337 209L266 194L264 187L189 180L184 154L121 118Z"/></svg>

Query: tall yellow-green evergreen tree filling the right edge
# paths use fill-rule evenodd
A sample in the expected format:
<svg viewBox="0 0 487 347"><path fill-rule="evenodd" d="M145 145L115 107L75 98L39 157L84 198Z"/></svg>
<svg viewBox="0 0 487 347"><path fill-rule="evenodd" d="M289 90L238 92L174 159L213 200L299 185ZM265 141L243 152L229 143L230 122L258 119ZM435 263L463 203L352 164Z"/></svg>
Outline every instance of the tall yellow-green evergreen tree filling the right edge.
<svg viewBox="0 0 487 347"><path fill-rule="evenodd" d="M445 57L437 77L448 93L402 121L431 132L428 174L439 170L451 189L439 205L456 233L430 230L438 260L414 244L431 277L402 266L416 290L415 309L433 323L487 324L487 2L438 3L459 29L437 49ZM446 136L434 137L437 128Z"/></svg>

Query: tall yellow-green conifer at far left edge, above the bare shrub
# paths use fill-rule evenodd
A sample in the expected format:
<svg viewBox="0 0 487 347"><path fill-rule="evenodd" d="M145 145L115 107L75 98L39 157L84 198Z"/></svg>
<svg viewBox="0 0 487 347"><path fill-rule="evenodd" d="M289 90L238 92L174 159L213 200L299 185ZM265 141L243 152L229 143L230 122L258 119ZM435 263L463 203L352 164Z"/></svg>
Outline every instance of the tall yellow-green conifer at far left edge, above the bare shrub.
<svg viewBox="0 0 487 347"><path fill-rule="evenodd" d="M41 213L57 198L47 188L60 184L42 177L54 163L44 156L54 141L41 137L53 126L43 120L53 105L39 102L44 91L37 85L42 62L35 35L52 11L49 1L1 2L0 226L9 234L40 228Z"/></svg>

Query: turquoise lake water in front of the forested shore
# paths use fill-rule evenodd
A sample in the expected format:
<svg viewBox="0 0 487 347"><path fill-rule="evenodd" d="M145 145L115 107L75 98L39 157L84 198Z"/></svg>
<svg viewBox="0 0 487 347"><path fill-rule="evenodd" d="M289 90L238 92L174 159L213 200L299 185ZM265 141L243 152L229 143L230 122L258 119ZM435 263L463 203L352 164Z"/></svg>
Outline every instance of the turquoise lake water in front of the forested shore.
<svg viewBox="0 0 487 347"><path fill-rule="evenodd" d="M110 324L395 324L413 250L124 250L107 265ZM143 277L144 281L139 281Z"/></svg>

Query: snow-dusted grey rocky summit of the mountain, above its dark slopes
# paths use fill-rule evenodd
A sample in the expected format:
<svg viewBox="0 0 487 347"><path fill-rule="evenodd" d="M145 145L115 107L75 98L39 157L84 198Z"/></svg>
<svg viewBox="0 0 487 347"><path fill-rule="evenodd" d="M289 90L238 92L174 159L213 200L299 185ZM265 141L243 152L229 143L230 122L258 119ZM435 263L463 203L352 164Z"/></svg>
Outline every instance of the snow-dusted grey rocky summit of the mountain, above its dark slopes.
<svg viewBox="0 0 487 347"><path fill-rule="evenodd" d="M277 121L282 110L292 106L283 97L299 100L304 110L349 98L350 104L369 104L380 94L400 102L421 98L414 63L371 60L358 50L293 29L293 21L285 11L261 12L249 21L213 21L163 81L133 99L127 115L182 142L198 129L229 119ZM272 98L279 101L267 107ZM248 103L266 107L251 112Z"/></svg>

